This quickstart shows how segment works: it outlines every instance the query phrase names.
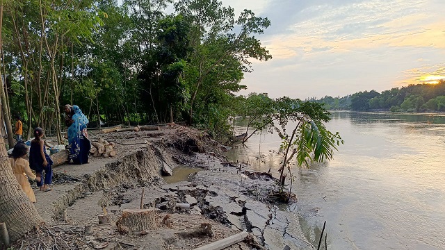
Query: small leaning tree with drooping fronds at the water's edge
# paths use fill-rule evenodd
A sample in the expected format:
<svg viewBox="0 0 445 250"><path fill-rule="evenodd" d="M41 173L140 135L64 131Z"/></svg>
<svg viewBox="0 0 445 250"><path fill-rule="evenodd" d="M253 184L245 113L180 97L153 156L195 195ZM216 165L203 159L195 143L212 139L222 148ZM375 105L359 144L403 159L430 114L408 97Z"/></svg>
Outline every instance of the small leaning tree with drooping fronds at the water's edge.
<svg viewBox="0 0 445 250"><path fill-rule="evenodd" d="M282 139L284 160L280 167L280 181L284 183L284 169L296 156L299 167L309 166L309 161L323 162L331 160L333 151L337 150L343 140L339 133L328 131L323 122L329 122L330 113L323 108L322 103L301 101L282 97L275 102L276 113L273 115L276 123L271 124L270 131L277 132ZM290 124L291 123L291 124ZM288 124L291 125L289 133Z"/></svg>

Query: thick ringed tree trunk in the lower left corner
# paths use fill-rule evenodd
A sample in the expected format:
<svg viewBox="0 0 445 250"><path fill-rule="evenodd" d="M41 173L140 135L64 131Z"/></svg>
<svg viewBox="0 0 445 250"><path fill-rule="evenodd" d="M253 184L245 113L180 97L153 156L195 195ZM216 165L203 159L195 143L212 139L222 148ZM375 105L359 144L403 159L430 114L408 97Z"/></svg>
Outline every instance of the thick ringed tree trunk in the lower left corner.
<svg viewBox="0 0 445 250"><path fill-rule="evenodd" d="M6 224L10 240L15 241L41 224L43 219L17 182L2 139L0 140L0 176L2 176L0 222Z"/></svg>

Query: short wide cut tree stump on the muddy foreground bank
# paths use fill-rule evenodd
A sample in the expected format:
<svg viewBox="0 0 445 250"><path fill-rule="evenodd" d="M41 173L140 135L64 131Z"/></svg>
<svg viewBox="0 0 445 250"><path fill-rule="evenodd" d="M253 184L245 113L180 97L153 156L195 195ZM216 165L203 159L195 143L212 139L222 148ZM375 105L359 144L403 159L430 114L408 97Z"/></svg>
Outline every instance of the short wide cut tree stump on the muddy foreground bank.
<svg viewBox="0 0 445 250"><path fill-rule="evenodd" d="M124 209L122 217L116 222L119 231L154 230L156 226L156 208Z"/></svg>

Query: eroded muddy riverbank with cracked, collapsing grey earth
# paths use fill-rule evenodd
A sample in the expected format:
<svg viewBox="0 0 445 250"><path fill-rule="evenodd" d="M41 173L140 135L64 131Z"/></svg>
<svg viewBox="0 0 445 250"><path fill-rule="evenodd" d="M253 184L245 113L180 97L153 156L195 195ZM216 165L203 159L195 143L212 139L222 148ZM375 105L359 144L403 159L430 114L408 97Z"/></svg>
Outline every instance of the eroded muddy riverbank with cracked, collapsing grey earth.
<svg viewBox="0 0 445 250"><path fill-rule="evenodd" d="M99 135L90 137L96 140ZM264 200L273 178L250 172L248 165L225 163L226 148L202 131L176 125L159 131L106 133L102 138L117 144L118 155L91 158L87 165L55 167L53 190L36 191L35 204L52 235L36 238L36 231L26 243L19 240L17 249L23 244L35 247L42 238L48 238L48 246L53 239L58 249L195 249L240 231L252 237L227 249L313 249L298 219ZM167 184L161 178L162 165L197 171L189 181ZM158 228L143 235L121 234L115 222L122 210L140 206L143 188L143 207L159 210ZM177 203L189 208L177 208ZM105 211L111 224L98 224L97 216ZM170 215L168 224L161 223L165 215ZM212 237L179 233L202 223L212 225Z"/></svg>

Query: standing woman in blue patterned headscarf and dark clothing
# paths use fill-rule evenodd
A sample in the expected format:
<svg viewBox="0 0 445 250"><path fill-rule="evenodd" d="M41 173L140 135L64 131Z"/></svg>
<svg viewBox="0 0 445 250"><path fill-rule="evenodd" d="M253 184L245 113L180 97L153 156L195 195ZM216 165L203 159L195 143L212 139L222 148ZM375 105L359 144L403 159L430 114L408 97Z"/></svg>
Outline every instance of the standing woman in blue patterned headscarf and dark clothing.
<svg viewBox="0 0 445 250"><path fill-rule="evenodd" d="M83 115L79 106L65 105L65 113L67 117L68 127L68 144L70 147L70 159L74 164L88 163L88 156L90 155L91 144L88 140L88 132L86 126L88 125L88 118Z"/></svg>

